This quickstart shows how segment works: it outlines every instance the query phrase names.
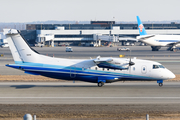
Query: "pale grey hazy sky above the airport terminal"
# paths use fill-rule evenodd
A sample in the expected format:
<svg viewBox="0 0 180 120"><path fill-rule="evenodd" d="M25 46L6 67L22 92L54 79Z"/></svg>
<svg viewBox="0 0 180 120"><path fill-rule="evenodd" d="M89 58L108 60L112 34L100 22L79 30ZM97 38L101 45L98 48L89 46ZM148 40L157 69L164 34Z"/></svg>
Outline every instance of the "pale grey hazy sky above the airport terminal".
<svg viewBox="0 0 180 120"><path fill-rule="evenodd" d="M0 22L180 20L180 0L0 0Z"/></svg>

